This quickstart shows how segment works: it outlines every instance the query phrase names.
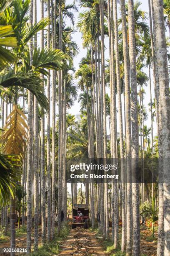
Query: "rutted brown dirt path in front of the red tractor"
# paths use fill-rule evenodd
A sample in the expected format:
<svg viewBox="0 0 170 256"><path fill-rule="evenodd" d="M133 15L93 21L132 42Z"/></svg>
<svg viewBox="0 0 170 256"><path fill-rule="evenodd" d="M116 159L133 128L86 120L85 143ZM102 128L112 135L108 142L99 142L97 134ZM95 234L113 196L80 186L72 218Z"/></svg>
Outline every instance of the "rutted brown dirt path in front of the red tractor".
<svg viewBox="0 0 170 256"><path fill-rule="evenodd" d="M108 255L103 251L102 246L95 238L95 232L84 228L75 228L70 231L67 240L60 245L59 256L96 256Z"/></svg>

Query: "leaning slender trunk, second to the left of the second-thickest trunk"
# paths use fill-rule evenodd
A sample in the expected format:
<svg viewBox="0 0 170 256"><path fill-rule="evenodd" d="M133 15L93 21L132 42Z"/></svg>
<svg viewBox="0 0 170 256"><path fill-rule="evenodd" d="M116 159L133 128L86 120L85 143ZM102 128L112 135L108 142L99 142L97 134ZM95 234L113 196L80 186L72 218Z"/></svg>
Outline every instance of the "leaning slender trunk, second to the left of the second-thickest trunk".
<svg viewBox="0 0 170 256"><path fill-rule="evenodd" d="M121 84L120 84L120 59L118 45L118 26L117 26L117 0L113 0L114 8L114 24L115 24L115 59L116 59L116 80L117 80L117 96L119 109L119 131L120 131L120 158L121 158L121 179L122 179L122 243L121 250L125 251L126 246L126 208L125 208L125 163L124 163L124 145L123 145L123 120L122 120L122 101L121 101Z"/></svg>

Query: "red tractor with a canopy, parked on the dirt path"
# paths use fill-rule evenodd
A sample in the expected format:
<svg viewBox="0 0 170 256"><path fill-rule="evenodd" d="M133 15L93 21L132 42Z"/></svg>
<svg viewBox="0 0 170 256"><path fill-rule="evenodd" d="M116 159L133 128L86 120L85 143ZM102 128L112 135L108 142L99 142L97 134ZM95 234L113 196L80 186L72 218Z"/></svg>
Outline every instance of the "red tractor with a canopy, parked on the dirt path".
<svg viewBox="0 0 170 256"><path fill-rule="evenodd" d="M72 228L76 228L77 225L83 226L84 228L89 227L89 205L73 205Z"/></svg>

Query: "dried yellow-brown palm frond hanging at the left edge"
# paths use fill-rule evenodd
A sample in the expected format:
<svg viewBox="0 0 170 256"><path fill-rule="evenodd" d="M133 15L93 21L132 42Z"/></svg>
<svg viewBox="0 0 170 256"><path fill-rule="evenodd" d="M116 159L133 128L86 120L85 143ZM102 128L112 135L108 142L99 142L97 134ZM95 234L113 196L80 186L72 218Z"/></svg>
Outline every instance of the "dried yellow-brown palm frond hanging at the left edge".
<svg viewBox="0 0 170 256"><path fill-rule="evenodd" d="M26 146L28 129L26 120L24 113L17 108L17 105L14 105L13 111L8 115L5 123L5 132L0 137L5 154L24 154L23 148Z"/></svg>

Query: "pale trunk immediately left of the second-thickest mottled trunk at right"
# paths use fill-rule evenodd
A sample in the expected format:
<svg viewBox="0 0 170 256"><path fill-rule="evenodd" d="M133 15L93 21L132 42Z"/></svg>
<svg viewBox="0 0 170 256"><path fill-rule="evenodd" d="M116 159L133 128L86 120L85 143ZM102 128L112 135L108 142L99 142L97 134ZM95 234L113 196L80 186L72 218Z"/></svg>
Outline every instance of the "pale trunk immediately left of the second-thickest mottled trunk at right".
<svg viewBox="0 0 170 256"><path fill-rule="evenodd" d="M123 57L125 72L125 116L126 116L126 173L127 173L127 253L132 248L132 186L131 182L131 120L130 120L130 67L128 54L128 34L126 26L125 0L120 0L122 15Z"/></svg>

